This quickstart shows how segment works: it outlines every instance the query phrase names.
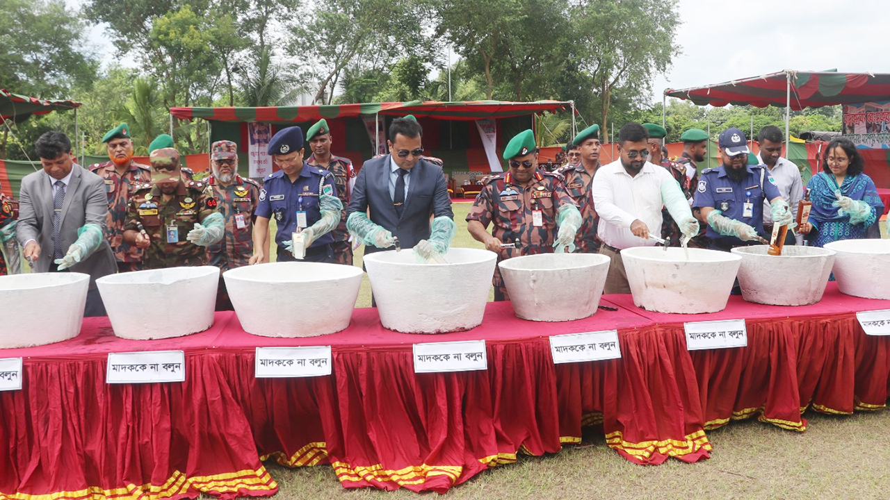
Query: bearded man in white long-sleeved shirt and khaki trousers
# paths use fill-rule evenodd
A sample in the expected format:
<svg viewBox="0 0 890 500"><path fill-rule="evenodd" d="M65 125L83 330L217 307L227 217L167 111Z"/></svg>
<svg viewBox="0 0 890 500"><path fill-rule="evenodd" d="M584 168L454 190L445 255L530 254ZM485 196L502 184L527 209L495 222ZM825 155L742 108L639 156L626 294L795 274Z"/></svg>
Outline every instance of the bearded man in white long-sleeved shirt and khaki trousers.
<svg viewBox="0 0 890 500"><path fill-rule="evenodd" d="M646 161L650 150L645 127L628 123L621 127L618 138L619 159L600 168L591 190L600 215L600 254L611 260L605 294L630 293L621 251L655 246L650 235L661 234L662 206L679 222L684 236L692 238L699 233L699 223L692 217L680 185L660 165Z"/></svg>

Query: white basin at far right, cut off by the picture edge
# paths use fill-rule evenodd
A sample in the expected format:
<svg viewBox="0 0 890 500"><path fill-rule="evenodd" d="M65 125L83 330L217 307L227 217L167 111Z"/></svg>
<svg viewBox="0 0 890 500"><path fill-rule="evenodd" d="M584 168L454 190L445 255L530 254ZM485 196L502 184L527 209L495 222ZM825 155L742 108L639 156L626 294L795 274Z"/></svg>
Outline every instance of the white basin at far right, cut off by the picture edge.
<svg viewBox="0 0 890 500"><path fill-rule="evenodd" d="M890 299L890 239L844 239L825 245L834 250L834 274L842 294Z"/></svg>

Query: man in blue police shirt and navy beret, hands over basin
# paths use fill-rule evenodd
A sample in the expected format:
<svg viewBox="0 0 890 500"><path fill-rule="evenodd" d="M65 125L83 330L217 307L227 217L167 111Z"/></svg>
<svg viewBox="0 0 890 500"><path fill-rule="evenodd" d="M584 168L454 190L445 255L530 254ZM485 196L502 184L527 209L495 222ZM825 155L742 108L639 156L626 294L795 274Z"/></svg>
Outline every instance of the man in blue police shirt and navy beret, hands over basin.
<svg viewBox="0 0 890 500"><path fill-rule="evenodd" d="M303 130L298 126L276 133L267 149L281 170L267 175L260 190L254 223L254 254L250 263L263 262L269 220L275 217L278 231L278 262L293 262L292 235L304 235L304 260L334 262L330 231L340 222L343 204L336 198L334 174L303 162Z"/></svg>

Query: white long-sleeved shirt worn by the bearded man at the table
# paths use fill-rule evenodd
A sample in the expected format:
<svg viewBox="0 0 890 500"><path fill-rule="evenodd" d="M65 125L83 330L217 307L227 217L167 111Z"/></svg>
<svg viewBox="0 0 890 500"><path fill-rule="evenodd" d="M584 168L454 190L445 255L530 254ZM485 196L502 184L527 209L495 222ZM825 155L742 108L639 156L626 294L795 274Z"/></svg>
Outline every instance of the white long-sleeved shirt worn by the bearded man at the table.
<svg viewBox="0 0 890 500"><path fill-rule="evenodd" d="M656 245L654 239L634 236L630 224L639 219L651 234L661 236L662 182L676 184L665 168L649 162L634 177L625 171L620 159L600 167L590 192L600 216L596 234L603 243L619 250Z"/></svg>

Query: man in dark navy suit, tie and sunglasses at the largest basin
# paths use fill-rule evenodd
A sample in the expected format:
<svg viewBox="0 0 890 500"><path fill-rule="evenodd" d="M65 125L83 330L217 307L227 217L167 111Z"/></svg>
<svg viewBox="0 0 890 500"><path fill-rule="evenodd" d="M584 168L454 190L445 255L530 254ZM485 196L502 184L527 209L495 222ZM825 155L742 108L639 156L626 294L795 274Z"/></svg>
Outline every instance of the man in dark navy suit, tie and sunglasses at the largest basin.
<svg viewBox="0 0 890 500"><path fill-rule="evenodd" d="M368 160L359 171L346 229L366 245L366 253L398 243L415 248L422 261L437 261L448 251L457 226L441 166L421 158L422 134L417 121L392 120L390 154Z"/></svg>

